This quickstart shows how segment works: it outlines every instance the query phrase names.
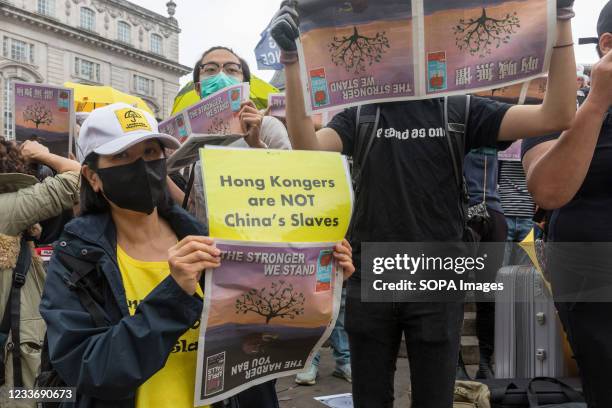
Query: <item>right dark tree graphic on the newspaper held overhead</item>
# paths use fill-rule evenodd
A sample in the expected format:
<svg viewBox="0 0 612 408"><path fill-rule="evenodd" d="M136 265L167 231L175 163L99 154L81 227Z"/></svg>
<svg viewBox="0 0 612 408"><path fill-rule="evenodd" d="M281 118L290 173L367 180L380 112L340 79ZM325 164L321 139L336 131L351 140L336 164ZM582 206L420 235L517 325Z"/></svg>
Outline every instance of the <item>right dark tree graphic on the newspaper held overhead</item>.
<svg viewBox="0 0 612 408"><path fill-rule="evenodd" d="M460 19L459 24L453 27L453 32L459 50L484 58L491 54L492 48L507 44L520 27L521 20L516 12L497 19L488 16L487 10L483 8L478 18Z"/></svg>

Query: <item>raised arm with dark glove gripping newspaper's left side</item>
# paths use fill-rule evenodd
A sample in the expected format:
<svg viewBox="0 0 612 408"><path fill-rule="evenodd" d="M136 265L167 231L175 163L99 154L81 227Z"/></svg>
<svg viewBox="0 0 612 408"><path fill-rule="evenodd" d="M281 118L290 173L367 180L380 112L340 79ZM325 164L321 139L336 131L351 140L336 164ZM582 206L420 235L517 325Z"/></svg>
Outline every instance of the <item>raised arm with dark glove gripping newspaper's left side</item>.
<svg viewBox="0 0 612 408"><path fill-rule="evenodd" d="M306 114L304 93L295 41L299 37L299 20L293 2L283 1L272 21L271 34L281 49L285 65L286 120L289 139L294 149L342 151L342 140L335 130L323 128L315 132L312 119Z"/></svg>

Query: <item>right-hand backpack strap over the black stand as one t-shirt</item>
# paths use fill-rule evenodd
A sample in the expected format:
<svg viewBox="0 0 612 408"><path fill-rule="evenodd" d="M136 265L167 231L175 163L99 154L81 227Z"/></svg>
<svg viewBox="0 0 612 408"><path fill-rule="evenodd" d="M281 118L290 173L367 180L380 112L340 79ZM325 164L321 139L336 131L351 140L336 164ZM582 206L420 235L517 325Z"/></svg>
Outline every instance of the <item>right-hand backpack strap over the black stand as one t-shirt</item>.
<svg viewBox="0 0 612 408"><path fill-rule="evenodd" d="M463 161L465 158L466 135L470 118L470 95L447 96L444 98L444 128L446 140L453 163L455 182L461 194L459 212L463 224L467 225L468 191L463 176Z"/></svg>

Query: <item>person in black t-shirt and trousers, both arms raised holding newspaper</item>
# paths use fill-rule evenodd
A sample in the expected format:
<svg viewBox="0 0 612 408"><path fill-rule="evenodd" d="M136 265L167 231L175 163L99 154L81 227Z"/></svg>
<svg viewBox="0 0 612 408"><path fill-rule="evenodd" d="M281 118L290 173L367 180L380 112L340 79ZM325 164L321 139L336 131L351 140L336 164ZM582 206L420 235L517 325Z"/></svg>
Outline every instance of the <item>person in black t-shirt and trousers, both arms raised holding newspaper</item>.
<svg viewBox="0 0 612 408"><path fill-rule="evenodd" d="M316 133L306 115L295 43L299 37L298 13L290 4L283 2L272 22L271 33L283 50L287 125L293 148L353 155L359 145L357 108L336 115ZM472 98L465 131L466 151L494 148L498 141L535 137L570 125L576 108L569 22L572 4L573 1L558 3L560 20L544 103L510 106ZM360 192L352 234L356 265L360 265L361 243L461 241L464 237L462 197L447 141L444 106L442 99L429 99L360 109L363 115L378 117L379 127L374 129L370 153L363 162L357 186ZM451 406L462 301L365 303L360 296L360 275L370 272L358 271L348 283L346 330L355 407L393 404L395 359L402 332L410 360L413 406Z"/></svg>

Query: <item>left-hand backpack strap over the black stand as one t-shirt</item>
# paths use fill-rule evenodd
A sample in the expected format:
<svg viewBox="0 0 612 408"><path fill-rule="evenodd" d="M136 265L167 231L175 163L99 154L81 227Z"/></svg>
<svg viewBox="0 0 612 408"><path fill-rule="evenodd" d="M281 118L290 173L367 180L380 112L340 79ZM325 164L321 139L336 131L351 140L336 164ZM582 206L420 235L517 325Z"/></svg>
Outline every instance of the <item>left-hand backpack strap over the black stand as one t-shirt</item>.
<svg viewBox="0 0 612 408"><path fill-rule="evenodd" d="M355 141L353 146L353 168L352 181L355 190L355 205L353 207L353 216L349 224L347 237L350 239L355 228L356 214L361 203L361 176L363 166L370 154L372 144L376 138L378 125L380 123L380 106L379 105L359 105L357 107L357 117L355 119Z"/></svg>

